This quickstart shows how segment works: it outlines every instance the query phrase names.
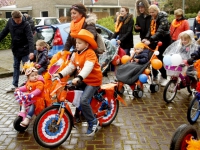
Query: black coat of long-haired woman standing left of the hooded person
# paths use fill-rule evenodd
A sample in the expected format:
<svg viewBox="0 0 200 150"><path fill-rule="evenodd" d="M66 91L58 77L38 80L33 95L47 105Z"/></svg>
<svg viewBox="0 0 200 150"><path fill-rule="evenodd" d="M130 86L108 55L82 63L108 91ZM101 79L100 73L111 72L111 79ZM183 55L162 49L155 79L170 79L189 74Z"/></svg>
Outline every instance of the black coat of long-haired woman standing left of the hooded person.
<svg viewBox="0 0 200 150"><path fill-rule="evenodd" d="M126 18L120 18L123 21L123 25L119 32L115 32L112 38L116 38L119 35L118 40L121 41L120 47L123 49L129 49L133 47L133 15L128 14Z"/></svg>

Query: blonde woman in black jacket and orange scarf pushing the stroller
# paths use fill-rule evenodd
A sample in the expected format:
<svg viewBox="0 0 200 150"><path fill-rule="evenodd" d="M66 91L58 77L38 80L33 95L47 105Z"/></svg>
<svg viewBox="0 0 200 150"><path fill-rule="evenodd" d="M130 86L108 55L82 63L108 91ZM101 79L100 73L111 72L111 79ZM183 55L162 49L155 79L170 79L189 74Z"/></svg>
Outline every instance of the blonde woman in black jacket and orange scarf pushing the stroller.
<svg viewBox="0 0 200 150"><path fill-rule="evenodd" d="M169 23L167 20L167 14L165 12L160 12L160 9L157 5L151 5L149 7L149 13L151 15L151 24L149 32L146 35L146 39L143 39L142 42L149 45L150 48L155 49L158 41L162 42L162 46L159 47L158 59L163 60L163 52L169 46L171 37L169 33ZM161 73L161 86L167 84L167 74L164 67L160 70ZM153 69L154 80L157 80L158 71Z"/></svg>

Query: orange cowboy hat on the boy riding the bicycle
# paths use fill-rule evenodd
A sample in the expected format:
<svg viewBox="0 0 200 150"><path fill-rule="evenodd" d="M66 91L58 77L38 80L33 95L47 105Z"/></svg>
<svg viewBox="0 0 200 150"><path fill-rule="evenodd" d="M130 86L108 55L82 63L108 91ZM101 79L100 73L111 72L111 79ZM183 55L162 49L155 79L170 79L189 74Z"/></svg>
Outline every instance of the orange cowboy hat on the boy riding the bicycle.
<svg viewBox="0 0 200 150"><path fill-rule="evenodd" d="M87 43L91 45L93 49L97 49L97 43L94 40L94 35L90 31L86 29L81 29L78 34L71 33L70 35L73 38L79 38L86 41Z"/></svg>

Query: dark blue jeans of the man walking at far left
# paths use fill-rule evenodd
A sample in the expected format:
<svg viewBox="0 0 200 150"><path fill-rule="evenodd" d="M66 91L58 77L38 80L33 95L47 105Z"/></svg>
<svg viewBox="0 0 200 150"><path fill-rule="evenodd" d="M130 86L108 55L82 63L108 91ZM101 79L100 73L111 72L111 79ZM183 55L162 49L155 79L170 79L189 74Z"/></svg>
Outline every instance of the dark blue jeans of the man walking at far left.
<svg viewBox="0 0 200 150"><path fill-rule="evenodd" d="M26 55L23 57L15 57L14 56L14 64L13 64L14 72L13 72L13 83L12 84L15 87L18 87L18 83L19 83L20 62L22 61L22 63L24 64L28 60L29 60L29 55Z"/></svg>

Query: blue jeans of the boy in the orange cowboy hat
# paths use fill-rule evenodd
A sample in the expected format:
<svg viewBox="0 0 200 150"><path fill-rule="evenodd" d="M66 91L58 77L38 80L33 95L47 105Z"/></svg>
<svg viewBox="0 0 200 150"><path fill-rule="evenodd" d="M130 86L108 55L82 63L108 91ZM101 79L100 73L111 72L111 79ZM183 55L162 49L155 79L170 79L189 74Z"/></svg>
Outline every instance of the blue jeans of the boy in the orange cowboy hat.
<svg viewBox="0 0 200 150"><path fill-rule="evenodd" d="M92 108L89 103L89 99L92 98L92 96L98 88L99 86L87 85L80 100L83 116L88 122L93 121L95 119L94 114L92 112Z"/></svg>

